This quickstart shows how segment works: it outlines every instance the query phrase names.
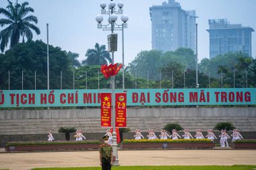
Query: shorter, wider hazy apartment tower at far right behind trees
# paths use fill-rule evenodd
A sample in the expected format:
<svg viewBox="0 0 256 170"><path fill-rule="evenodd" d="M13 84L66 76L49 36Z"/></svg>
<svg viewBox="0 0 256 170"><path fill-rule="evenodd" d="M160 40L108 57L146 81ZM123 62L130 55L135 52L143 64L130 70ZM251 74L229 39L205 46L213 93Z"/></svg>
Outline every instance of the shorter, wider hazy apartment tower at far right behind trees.
<svg viewBox="0 0 256 170"><path fill-rule="evenodd" d="M230 24L227 19L209 19L210 59L218 54L238 52L251 56L251 27Z"/></svg>

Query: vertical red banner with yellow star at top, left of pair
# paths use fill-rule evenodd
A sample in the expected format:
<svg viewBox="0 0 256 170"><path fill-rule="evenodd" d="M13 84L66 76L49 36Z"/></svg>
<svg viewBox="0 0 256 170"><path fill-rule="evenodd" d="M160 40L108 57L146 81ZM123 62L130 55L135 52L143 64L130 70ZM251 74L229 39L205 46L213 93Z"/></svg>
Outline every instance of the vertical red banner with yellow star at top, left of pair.
<svg viewBox="0 0 256 170"><path fill-rule="evenodd" d="M100 108L101 108L101 126L111 127L111 93L100 94Z"/></svg>

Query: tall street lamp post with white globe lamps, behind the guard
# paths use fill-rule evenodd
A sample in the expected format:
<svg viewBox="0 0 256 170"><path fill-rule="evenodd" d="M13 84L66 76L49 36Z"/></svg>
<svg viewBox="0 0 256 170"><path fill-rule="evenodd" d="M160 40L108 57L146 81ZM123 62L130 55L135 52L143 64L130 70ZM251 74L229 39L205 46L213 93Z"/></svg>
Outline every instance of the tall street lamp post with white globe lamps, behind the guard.
<svg viewBox="0 0 256 170"><path fill-rule="evenodd" d="M102 2L100 3L101 9L101 14L106 14L108 15L108 24L103 25L103 16L102 15L97 15L96 16L96 21L98 22L98 28L102 30L110 30L111 33L114 33L114 30L121 30L122 35L123 35L123 29L127 28L127 21L129 17L125 14L123 14L123 3L119 2L117 3L117 6L119 7L118 9L115 8L116 3L113 0L110 0L111 2L108 5L108 9L106 8L106 3ZM116 23L117 21L117 15L116 14L123 14L121 16L121 20L123 24L119 25ZM112 38L111 38L112 39ZM112 40L110 40L111 43ZM108 49L110 52L112 52L112 63L115 65L114 62L114 52L117 51L117 49ZM124 62L124 55L123 55L123 62ZM123 63L124 65L124 63ZM123 75L124 75L124 70L123 70ZM124 81L124 78L123 78ZM113 113L113 165L114 166L119 166L119 158L118 158L118 153L117 153L117 132L116 132L116 126L115 126L115 75L111 77L111 84L112 84L112 113ZM124 82L123 82L123 88L124 88Z"/></svg>

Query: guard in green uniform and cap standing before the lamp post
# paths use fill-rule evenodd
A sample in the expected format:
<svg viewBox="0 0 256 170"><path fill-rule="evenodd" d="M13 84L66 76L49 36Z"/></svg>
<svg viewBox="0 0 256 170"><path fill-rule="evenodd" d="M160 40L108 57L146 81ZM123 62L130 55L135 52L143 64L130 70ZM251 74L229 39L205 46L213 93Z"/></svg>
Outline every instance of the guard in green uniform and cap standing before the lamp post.
<svg viewBox="0 0 256 170"><path fill-rule="evenodd" d="M103 144L100 145L100 165L102 170L110 170L113 165L113 149L108 144L108 136L103 136Z"/></svg>

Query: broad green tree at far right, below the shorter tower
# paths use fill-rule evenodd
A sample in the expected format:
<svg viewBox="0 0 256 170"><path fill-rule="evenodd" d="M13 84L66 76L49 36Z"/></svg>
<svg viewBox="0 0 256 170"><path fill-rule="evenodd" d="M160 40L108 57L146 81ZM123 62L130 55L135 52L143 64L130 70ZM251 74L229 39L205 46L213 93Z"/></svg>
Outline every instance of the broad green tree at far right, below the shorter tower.
<svg viewBox="0 0 256 170"><path fill-rule="evenodd" d="M218 87L221 87L223 75L223 87L233 87L235 73L235 87L246 87L246 75L248 74L249 87L255 85L253 78L255 73L253 68L253 58L242 52L229 52L218 55L211 60L203 58L199 63L199 71L212 78L218 79ZM253 84L254 83L254 84ZM216 83L214 87L216 87Z"/></svg>

